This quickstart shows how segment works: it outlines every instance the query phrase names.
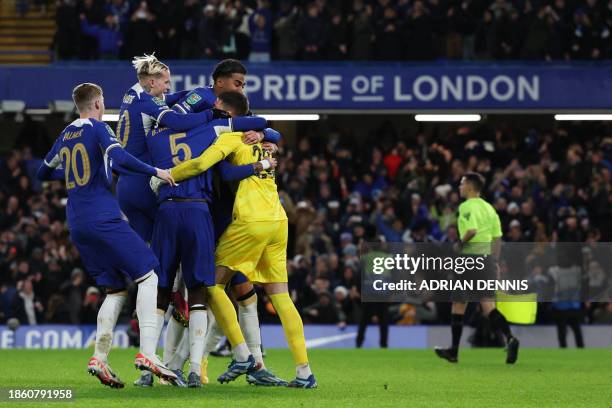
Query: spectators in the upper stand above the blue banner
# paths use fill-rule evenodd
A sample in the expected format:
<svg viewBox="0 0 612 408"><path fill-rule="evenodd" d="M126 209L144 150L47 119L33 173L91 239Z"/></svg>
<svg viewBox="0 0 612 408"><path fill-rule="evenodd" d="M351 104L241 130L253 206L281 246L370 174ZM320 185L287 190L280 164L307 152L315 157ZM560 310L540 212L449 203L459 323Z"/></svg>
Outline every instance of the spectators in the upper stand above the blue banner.
<svg viewBox="0 0 612 408"><path fill-rule="evenodd" d="M601 60L607 0L58 0L56 57Z"/></svg>

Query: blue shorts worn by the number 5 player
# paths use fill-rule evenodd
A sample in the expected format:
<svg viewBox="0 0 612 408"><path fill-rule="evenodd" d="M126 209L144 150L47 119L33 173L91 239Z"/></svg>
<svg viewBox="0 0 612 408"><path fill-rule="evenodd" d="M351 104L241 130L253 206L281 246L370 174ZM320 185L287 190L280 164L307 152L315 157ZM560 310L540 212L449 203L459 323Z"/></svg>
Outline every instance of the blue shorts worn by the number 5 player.
<svg viewBox="0 0 612 408"><path fill-rule="evenodd" d="M206 203L163 202L151 247L159 259L160 288L172 289L179 264L187 289L215 284L215 235Z"/></svg>

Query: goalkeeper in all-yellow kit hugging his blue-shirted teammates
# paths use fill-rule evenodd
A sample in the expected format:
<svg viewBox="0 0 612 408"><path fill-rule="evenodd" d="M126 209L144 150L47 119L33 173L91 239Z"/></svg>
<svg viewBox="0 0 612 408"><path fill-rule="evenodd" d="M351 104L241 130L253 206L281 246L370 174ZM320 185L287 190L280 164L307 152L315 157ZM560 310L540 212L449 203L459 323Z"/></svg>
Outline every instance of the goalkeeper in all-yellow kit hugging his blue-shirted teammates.
<svg viewBox="0 0 612 408"><path fill-rule="evenodd" d="M248 101L239 92L225 92L218 96L215 107L231 116L241 116L248 111ZM261 144L243 144L242 133L227 133L219 136L198 158L174 167L171 174L180 182L223 159L236 165L262 161L268 156ZM232 223L219 239L215 253L217 285L208 288L210 307L234 352L234 360L218 378L221 383L233 381L255 369L255 360L245 343L236 311L224 290L232 276L242 272L251 282L263 286L281 319L296 364L296 378L289 387L317 386L308 364L302 319L287 287L287 229L287 215L278 197L274 172L264 169L259 175L240 181Z"/></svg>

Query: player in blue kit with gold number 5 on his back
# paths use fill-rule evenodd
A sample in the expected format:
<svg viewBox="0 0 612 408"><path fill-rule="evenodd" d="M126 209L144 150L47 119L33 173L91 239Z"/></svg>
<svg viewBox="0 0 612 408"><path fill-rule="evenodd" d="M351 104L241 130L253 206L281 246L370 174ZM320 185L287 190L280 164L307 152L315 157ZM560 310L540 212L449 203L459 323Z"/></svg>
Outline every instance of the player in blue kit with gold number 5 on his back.
<svg viewBox="0 0 612 408"><path fill-rule="evenodd" d="M159 167L173 167L200 155L217 137L227 131L263 129L263 118L218 119L187 132L157 128L147 137L152 162ZM244 179L271 166L251 163L233 166L220 163L218 171L227 179ZM209 212L213 201L212 172L186 180L176 187L163 186L159 191L159 209L153 228L151 247L160 260L158 310L165 312L170 302L170 291L179 263L188 289L189 305L189 387L200 387L200 363L207 331L205 306L206 286L214 285L215 234ZM180 367L173 368L182 377Z"/></svg>

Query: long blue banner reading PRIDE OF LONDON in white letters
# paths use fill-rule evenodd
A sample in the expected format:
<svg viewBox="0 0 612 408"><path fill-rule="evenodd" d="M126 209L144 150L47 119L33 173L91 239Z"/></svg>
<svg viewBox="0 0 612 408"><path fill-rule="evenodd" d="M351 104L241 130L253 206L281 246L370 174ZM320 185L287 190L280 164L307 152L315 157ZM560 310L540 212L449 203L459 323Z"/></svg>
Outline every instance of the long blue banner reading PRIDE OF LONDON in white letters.
<svg viewBox="0 0 612 408"><path fill-rule="evenodd" d="M212 62L171 63L174 90L210 83ZM486 63L249 64L247 92L262 110L605 110L612 107L612 65ZM95 82L117 108L136 81L127 62L0 68L0 100L28 108L70 99Z"/></svg>

